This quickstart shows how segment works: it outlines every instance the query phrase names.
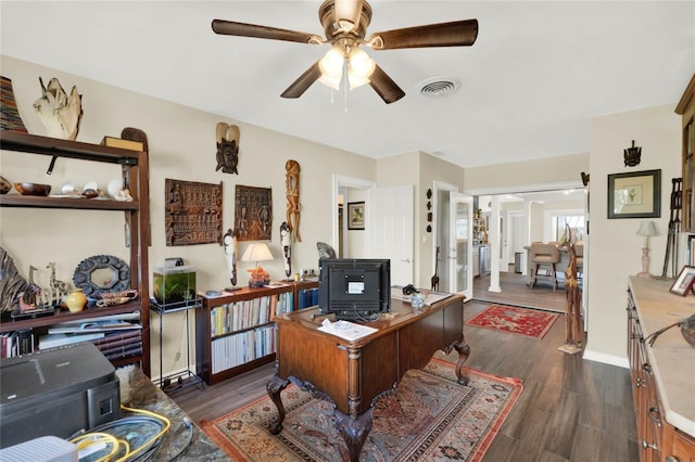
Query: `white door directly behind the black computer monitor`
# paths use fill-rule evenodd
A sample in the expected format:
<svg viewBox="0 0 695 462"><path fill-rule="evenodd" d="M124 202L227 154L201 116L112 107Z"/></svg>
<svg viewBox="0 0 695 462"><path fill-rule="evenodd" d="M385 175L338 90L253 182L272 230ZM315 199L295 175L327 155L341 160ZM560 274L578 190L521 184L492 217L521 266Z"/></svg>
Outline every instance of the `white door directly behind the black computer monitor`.
<svg viewBox="0 0 695 462"><path fill-rule="evenodd" d="M413 284L413 187L367 190L367 258L391 259L391 284Z"/></svg>

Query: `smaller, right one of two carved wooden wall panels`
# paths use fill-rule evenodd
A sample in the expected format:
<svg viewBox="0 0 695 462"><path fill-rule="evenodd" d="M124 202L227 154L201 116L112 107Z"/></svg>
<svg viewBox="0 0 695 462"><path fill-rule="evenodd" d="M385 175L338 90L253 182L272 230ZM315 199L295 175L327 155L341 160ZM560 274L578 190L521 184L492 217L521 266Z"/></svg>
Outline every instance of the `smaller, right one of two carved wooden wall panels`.
<svg viewBox="0 0 695 462"><path fill-rule="evenodd" d="M239 241L265 241L273 238L273 190L237 184L235 190L235 230Z"/></svg>

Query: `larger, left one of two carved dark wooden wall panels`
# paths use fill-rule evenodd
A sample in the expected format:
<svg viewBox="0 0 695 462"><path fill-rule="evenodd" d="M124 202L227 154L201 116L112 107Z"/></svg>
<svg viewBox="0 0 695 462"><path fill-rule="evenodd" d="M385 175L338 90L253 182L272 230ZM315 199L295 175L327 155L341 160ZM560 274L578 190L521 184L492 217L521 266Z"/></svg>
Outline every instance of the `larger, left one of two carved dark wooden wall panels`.
<svg viewBox="0 0 695 462"><path fill-rule="evenodd" d="M164 180L166 245L222 245L222 182Z"/></svg>

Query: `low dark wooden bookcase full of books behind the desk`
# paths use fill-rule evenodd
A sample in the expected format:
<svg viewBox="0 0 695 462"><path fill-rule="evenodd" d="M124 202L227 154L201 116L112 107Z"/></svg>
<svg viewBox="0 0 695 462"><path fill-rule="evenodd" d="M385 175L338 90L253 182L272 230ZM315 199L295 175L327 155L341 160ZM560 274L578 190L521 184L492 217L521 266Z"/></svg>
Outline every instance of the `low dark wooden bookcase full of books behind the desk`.
<svg viewBox="0 0 695 462"><path fill-rule="evenodd" d="M276 316L315 305L318 283L242 287L220 296L200 294L195 311L198 376L213 385L275 360ZM309 303L312 305L306 305Z"/></svg>

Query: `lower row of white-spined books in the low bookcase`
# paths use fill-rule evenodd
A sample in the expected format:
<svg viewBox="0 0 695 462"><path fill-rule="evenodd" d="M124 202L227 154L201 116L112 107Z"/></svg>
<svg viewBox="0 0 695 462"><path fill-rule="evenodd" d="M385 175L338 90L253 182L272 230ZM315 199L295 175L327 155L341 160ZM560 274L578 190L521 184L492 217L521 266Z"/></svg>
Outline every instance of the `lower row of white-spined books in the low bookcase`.
<svg viewBox="0 0 695 462"><path fill-rule="evenodd" d="M243 364L276 350L275 325L266 325L235 335L216 338L212 343L212 373Z"/></svg>

